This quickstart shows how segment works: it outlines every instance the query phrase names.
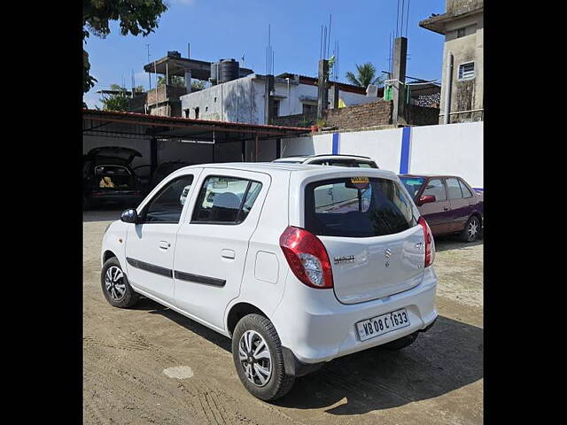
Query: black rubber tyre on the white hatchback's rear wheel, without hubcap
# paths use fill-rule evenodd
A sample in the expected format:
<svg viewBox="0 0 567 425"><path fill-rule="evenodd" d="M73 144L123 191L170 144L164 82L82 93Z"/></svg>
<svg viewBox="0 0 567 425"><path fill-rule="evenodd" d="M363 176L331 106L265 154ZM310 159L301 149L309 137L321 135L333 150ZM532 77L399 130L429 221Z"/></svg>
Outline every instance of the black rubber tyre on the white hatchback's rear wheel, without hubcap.
<svg viewBox="0 0 567 425"><path fill-rule="evenodd" d="M271 375L268 381L259 386L249 381L245 374L244 362L239 359L239 344L241 337L246 331L254 331L264 339L268 345L269 357L271 361ZM258 344L256 345L256 347ZM281 398L293 386L295 378L285 375L283 367L283 351L280 337L277 335L276 328L268 318L260 316L260 314L248 314L237 323L232 335L232 359L234 366L237 368L237 374L240 381L252 396L260 398L264 401L272 401Z"/></svg>

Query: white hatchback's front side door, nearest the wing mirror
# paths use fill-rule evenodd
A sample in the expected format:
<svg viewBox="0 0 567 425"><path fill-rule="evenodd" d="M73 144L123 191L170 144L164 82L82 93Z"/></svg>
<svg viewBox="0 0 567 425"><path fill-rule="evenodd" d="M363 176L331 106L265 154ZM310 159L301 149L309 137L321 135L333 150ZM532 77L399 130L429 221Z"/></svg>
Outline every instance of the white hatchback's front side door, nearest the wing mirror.
<svg viewBox="0 0 567 425"><path fill-rule="evenodd" d="M128 281L135 289L167 303L174 301L175 235L194 177L184 174L163 184L139 208L141 222L128 228Z"/></svg>

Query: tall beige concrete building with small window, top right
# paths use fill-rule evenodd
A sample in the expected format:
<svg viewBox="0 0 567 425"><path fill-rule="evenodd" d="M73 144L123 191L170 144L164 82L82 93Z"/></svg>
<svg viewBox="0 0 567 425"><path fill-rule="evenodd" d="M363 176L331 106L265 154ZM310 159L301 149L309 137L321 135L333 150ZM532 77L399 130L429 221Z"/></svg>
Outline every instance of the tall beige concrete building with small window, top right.
<svg viewBox="0 0 567 425"><path fill-rule="evenodd" d="M445 35L439 123L483 120L483 0L447 0L420 27Z"/></svg>

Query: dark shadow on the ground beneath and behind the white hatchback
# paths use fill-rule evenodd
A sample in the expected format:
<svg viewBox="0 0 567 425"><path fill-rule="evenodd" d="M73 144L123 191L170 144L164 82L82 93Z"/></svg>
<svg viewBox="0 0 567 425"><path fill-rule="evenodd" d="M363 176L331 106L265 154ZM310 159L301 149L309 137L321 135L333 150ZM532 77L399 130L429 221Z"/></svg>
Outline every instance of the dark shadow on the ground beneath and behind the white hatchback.
<svg viewBox="0 0 567 425"><path fill-rule="evenodd" d="M148 298L135 308L161 314L230 352L229 338ZM326 412L335 415L361 414L436 398L482 377L483 329L439 316L409 347L398 352L377 347L334 359L297 378L291 391L274 404L328 408Z"/></svg>

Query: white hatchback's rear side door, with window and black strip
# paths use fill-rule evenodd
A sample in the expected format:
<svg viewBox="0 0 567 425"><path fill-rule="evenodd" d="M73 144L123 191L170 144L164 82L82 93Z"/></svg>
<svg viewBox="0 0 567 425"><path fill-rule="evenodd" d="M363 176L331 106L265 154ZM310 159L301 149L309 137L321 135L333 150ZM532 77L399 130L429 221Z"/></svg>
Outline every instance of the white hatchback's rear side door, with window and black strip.
<svg viewBox="0 0 567 425"><path fill-rule="evenodd" d="M240 293L248 241L268 192L268 174L205 170L175 247L175 306L216 328Z"/></svg>

